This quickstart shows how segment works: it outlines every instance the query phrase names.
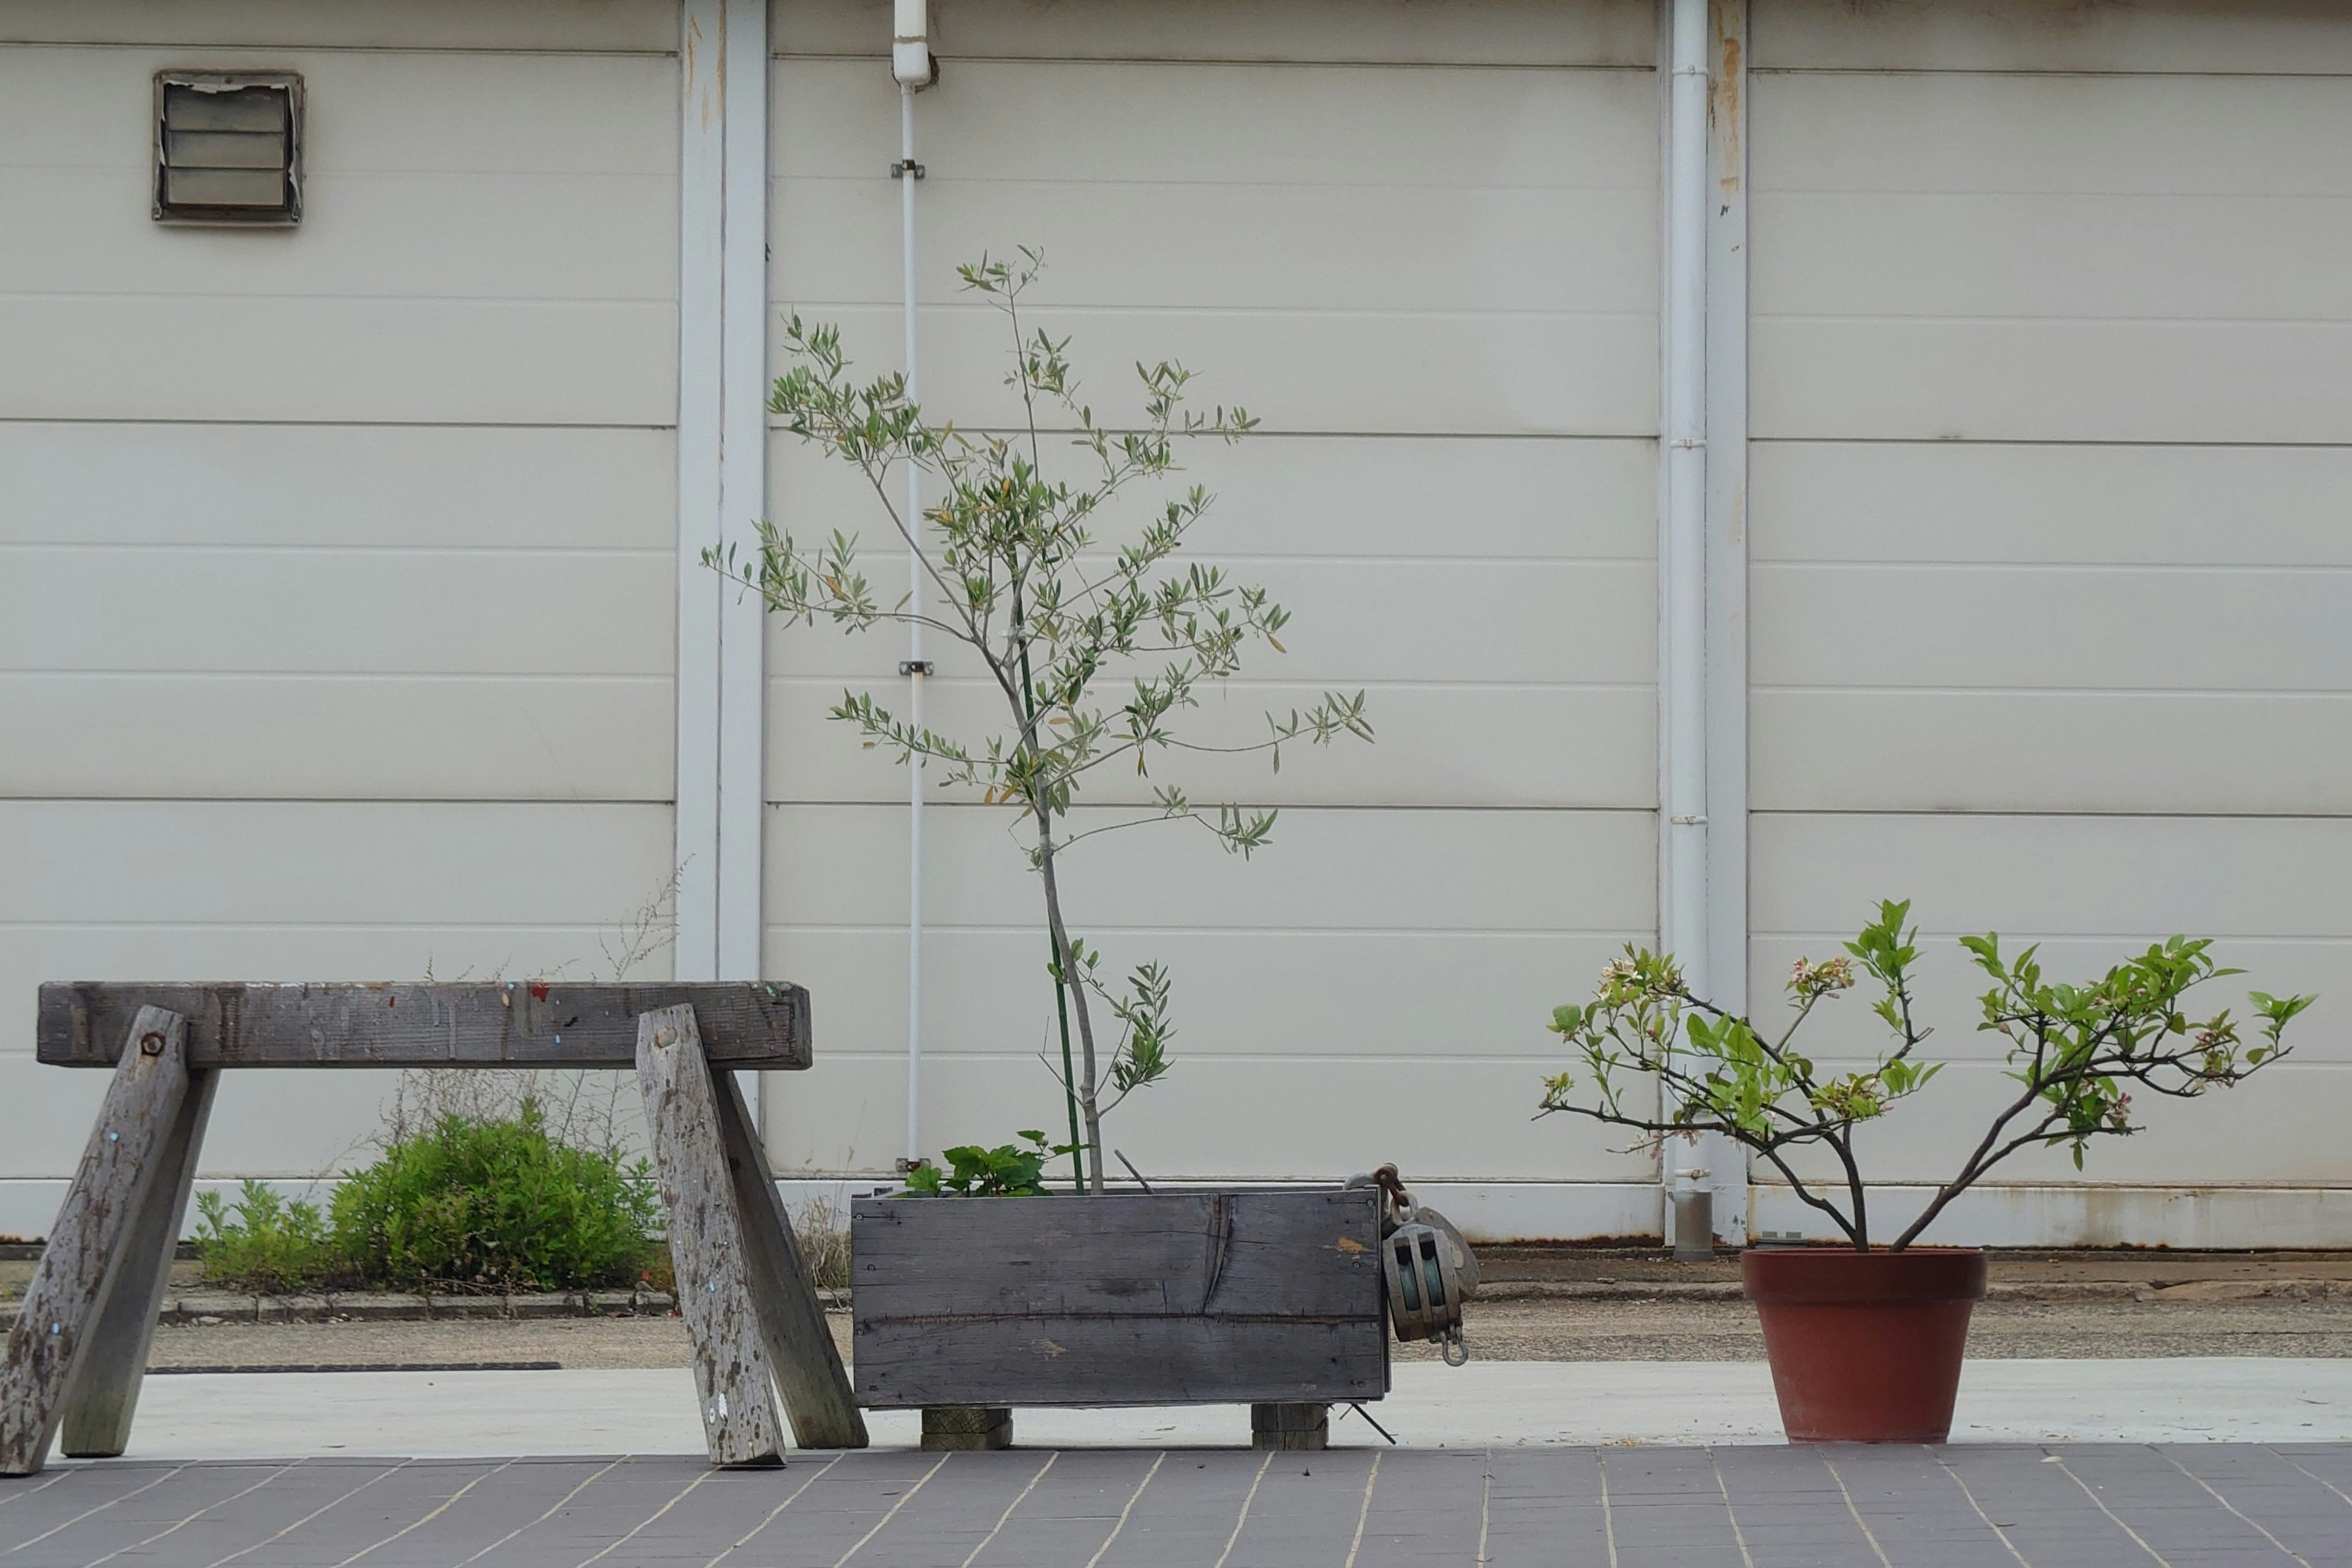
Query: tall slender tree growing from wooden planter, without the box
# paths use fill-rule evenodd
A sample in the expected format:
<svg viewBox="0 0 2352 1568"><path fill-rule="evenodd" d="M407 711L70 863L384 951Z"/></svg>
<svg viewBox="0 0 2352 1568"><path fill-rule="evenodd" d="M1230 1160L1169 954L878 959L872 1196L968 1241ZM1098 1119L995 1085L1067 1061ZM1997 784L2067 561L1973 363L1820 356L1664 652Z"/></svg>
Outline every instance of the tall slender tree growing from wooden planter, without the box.
<svg viewBox="0 0 2352 1568"><path fill-rule="evenodd" d="M1185 710L1240 675L1244 654L1282 651L1289 611L1218 567L1174 564L1209 510L1209 491L1157 498L1138 508L1131 527L1112 520L1134 491L1176 473L1178 442L1242 440L1256 421L1242 409L1190 409L1190 371L1162 360L1136 364L1134 425L1098 423L1077 395L1068 339L1021 324L1021 296L1042 266L1037 252L1023 249L1018 263L983 256L957 268L964 289L1004 320L1004 386L1021 397L1007 433L934 421L908 397L906 376L854 381L835 327L793 317L783 331L793 369L776 381L769 411L861 473L913 562L913 592L880 599L858 564L856 536L840 529L811 543L762 522L753 559L731 548L703 559L786 621L828 621L844 632L882 623L927 628L960 644L978 686L1002 703L1004 729L969 738L891 712L868 691L844 691L833 717L851 724L868 748L931 764L941 788L967 788L981 804L1004 806L1033 844L1063 1034L1056 1077L1070 1105L1073 1154L1094 1154L1082 1180L1101 1192L1101 1119L1169 1070L1169 976L1143 964L1124 985L1103 980L1101 954L1063 922L1061 858L1080 839L1148 820L1195 823L1247 856L1265 846L1275 813L1195 806L1181 788L1162 783L1145 816L1070 832L1080 790L1105 766L1148 776L1171 752L1268 752L1279 766L1284 745L1369 741L1371 724L1362 691L1327 691L1303 712L1268 712L1265 738L1249 745L1204 745L1178 733ZM936 505L920 515L891 494L910 470L941 482ZM1101 1051L1096 1004L1117 1020L1117 1037Z"/></svg>

